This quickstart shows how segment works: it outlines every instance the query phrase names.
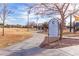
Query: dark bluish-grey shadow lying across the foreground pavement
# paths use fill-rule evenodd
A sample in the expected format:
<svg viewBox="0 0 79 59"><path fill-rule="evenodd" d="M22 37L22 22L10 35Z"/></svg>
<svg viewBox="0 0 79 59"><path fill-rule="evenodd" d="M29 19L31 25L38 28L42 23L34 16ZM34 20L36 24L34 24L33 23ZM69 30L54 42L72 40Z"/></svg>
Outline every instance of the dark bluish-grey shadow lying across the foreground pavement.
<svg viewBox="0 0 79 59"><path fill-rule="evenodd" d="M40 48L40 47L34 47L34 48L30 48L30 49L22 49L22 50L13 52L12 54L10 54L8 56L33 56L38 53L41 53L42 51L45 51L45 49Z"/></svg>

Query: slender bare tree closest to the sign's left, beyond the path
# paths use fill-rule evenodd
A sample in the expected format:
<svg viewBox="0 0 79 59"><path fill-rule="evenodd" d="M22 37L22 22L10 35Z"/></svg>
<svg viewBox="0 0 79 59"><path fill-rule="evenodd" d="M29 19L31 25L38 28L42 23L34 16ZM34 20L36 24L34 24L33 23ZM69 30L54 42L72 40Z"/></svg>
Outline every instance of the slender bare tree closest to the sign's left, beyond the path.
<svg viewBox="0 0 79 59"><path fill-rule="evenodd" d="M36 23L37 23L37 30L38 30L38 21L40 17L44 17L45 16L45 11L46 11L46 7L42 4L35 4L35 6L32 8L34 10L34 15L37 16L36 18ZM32 11L33 11L32 10Z"/></svg>

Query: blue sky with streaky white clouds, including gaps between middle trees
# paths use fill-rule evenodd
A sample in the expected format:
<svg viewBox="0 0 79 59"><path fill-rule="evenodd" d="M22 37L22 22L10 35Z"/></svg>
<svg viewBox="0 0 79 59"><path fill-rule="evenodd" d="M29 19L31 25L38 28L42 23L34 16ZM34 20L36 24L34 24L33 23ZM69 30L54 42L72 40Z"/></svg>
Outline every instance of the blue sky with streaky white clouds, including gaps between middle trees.
<svg viewBox="0 0 79 59"><path fill-rule="evenodd" d="M7 5L7 9L11 11L11 13L8 14L5 24L20 24L20 25L26 25L28 22L27 18L27 8L33 6L32 3L9 3ZM30 22L34 21L36 22L37 16L34 15L34 13L30 14ZM45 22L45 18L41 18L39 16L39 23ZM37 23L37 22L36 22Z"/></svg>

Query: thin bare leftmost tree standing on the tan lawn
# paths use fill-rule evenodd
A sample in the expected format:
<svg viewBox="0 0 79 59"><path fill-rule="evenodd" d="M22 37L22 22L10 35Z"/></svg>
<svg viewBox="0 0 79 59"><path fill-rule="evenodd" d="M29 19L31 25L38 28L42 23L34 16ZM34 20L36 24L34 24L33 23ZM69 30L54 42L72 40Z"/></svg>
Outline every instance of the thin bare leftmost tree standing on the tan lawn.
<svg viewBox="0 0 79 59"><path fill-rule="evenodd" d="M7 18L9 13L10 13L10 11L7 9L7 4L6 3L2 3L2 10L1 10L1 13L0 13L0 19L3 22L2 36L4 36L5 20L6 20L6 18Z"/></svg>

